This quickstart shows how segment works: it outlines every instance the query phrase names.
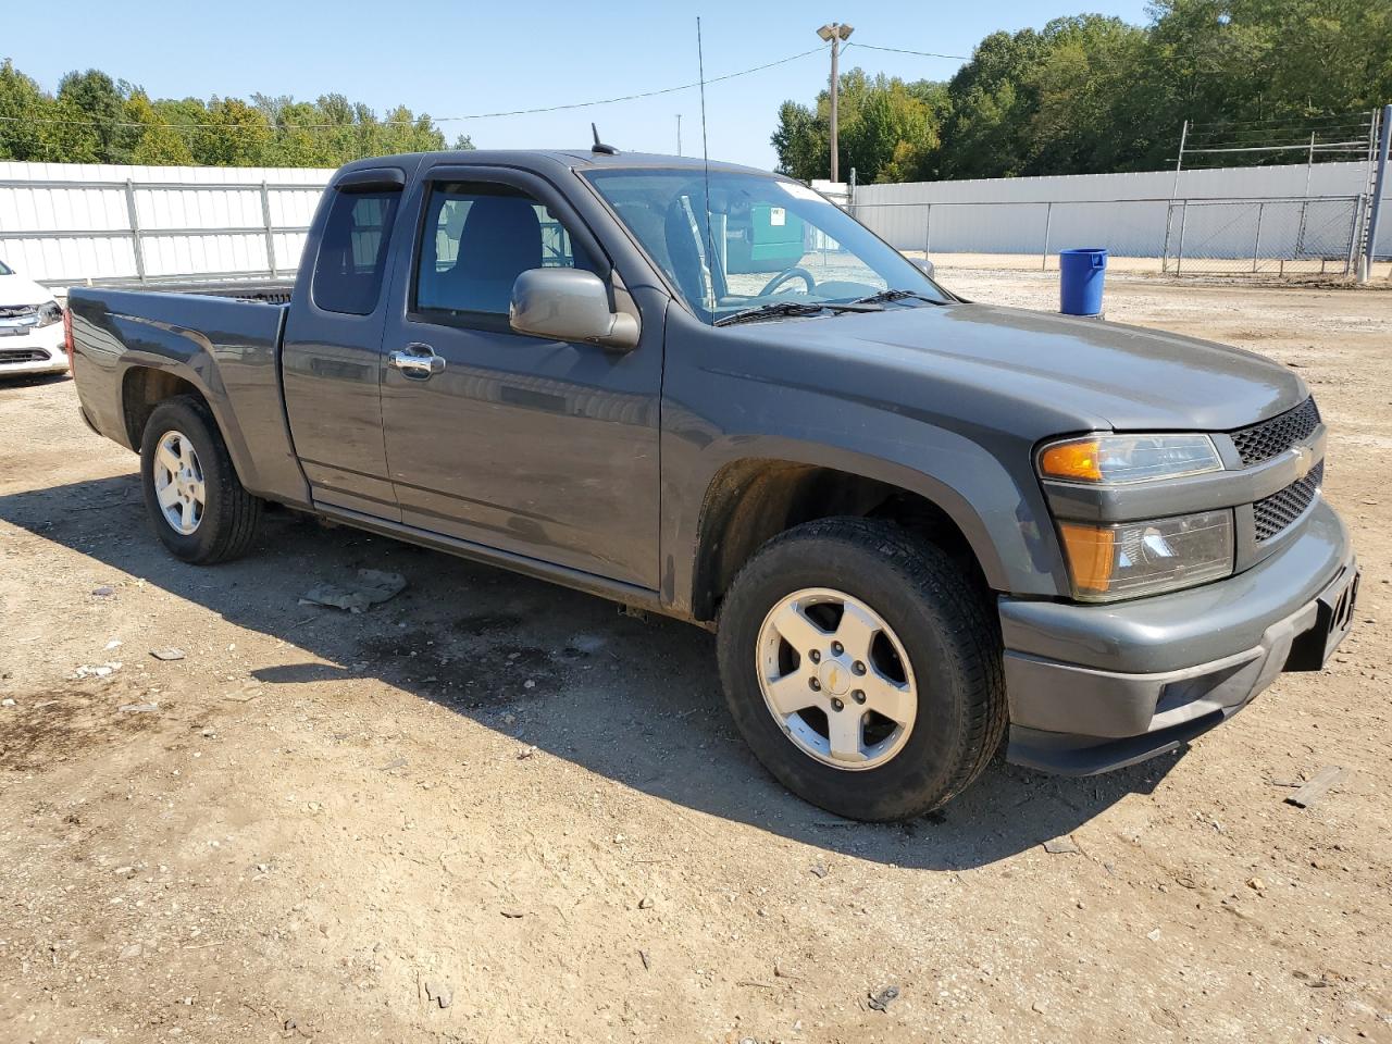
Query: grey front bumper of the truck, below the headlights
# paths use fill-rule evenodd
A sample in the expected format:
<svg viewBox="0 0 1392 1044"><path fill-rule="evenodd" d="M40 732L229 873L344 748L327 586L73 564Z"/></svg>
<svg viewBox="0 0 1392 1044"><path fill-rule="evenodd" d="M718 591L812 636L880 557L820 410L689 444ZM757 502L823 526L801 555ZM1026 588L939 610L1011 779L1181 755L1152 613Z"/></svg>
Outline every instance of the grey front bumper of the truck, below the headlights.
<svg viewBox="0 0 1392 1044"><path fill-rule="evenodd" d="M1006 757L1090 775L1173 750L1283 670L1318 670L1353 622L1359 569L1317 500L1279 553L1218 583L1129 603L999 600Z"/></svg>

